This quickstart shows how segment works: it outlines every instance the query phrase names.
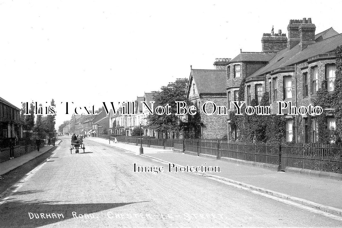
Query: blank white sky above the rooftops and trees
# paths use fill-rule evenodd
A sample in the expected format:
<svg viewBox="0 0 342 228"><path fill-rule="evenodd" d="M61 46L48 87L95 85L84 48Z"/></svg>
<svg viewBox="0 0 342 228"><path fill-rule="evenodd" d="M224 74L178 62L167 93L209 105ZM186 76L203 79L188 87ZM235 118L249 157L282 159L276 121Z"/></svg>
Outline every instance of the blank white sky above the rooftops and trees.
<svg viewBox="0 0 342 228"><path fill-rule="evenodd" d="M311 17L342 32L341 1L0 1L0 97L95 106L134 100L215 58L260 52L263 33ZM63 102L63 104L61 104Z"/></svg>

